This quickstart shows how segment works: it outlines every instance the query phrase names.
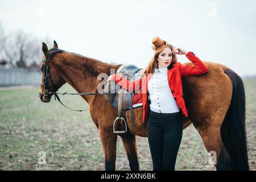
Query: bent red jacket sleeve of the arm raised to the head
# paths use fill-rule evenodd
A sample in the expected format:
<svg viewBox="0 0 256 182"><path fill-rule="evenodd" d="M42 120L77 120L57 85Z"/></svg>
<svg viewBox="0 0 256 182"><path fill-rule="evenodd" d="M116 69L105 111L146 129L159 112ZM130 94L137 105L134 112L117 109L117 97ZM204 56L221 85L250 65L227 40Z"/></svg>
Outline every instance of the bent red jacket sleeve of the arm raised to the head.
<svg viewBox="0 0 256 182"><path fill-rule="evenodd" d="M181 77L184 76L193 76L193 75L202 75L203 73L208 71L208 68L205 66L205 64L195 56L194 53L188 52L187 58L189 61L192 61L194 65L180 65L180 73Z"/></svg>

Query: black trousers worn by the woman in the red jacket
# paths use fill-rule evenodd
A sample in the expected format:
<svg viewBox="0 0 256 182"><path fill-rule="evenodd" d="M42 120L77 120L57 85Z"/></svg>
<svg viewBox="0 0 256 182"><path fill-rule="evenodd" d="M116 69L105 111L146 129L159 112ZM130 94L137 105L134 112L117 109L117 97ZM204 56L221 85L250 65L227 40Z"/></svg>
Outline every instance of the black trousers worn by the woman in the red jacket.
<svg viewBox="0 0 256 182"><path fill-rule="evenodd" d="M181 111L155 113L150 110L147 135L153 162L153 170L175 170L177 152L182 138Z"/></svg>

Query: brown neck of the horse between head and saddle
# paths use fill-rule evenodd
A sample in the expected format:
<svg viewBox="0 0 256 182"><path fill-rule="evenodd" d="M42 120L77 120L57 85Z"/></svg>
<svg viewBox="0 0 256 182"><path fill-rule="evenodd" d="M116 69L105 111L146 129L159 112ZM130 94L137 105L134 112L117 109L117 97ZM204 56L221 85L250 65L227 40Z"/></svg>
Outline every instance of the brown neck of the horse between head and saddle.
<svg viewBox="0 0 256 182"><path fill-rule="evenodd" d="M110 75L110 69L118 69L118 66L104 63L90 57L75 55L73 53L58 53L55 55L54 67L60 73L65 82L68 82L78 93L96 93L97 80L100 73ZM90 104L95 96L81 96ZM96 96L97 97L97 96Z"/></svg>

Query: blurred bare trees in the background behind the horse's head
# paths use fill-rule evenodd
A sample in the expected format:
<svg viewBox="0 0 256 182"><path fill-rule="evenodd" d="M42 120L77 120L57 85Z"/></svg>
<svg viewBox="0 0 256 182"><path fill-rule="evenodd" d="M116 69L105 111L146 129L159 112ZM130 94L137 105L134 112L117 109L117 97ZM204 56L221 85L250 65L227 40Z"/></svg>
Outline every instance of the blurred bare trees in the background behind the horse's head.
<svg viewBox="0 0 256 182"><path fill-rule="evenodd" d="M0 65L2 67L9 64L13 68L39 69L40 60L43 57L40 51L41 46L42 40L31 34L22 31L7 34L0 22Z"/></svg>

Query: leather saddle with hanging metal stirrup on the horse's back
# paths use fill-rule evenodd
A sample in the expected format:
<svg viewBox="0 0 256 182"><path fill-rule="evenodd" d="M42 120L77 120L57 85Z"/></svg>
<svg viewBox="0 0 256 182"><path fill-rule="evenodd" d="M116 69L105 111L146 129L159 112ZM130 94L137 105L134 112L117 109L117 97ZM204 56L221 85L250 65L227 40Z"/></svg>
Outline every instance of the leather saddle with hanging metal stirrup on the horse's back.
<svg viewBox="0 0 256 182"><path fill-rule="evenodd" d="M126 80L135 81L141 77L143 69L138 68L133 64L122 65L118 68L116 74L122 76ZM123 89L122 87L119 88L119 85L115 83L115 81L109 81L105 88L105 93L113 93L113 94L106 94L106 100L115 108L118 108L118 117L115 119L113 124L114 133L123 134L127 132L127 125L125 119L125 111L130 109L131 112L131 128L134 129L134 114L133 109L137 109L142 107L142 103L133 105L133 97L134 92L130 92L128 90ZM116 131L115 130L115 122L122 121L125 123L125 130Z"/></svg>

